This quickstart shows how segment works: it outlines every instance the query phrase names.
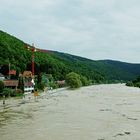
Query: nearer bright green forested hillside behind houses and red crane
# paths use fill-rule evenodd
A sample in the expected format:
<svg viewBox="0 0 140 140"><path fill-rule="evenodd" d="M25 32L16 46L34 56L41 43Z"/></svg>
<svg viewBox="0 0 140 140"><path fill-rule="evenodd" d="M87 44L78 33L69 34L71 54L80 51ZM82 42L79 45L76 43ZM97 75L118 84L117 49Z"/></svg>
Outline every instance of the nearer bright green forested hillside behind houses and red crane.
<svg viewBox="0 0 140 140"><path fill-rule="evenodd" d="M26 48L23 41L0 31L0 65L1 72L8 73L8 64L11 69L17 70L17 75L24 70L31 70L31 50ZM63 57L63 56L62 56ZM84 70L85 69L85 70ZM63 61L55 52L35 52L35 74L41 72L52 74L55 80L65 79L66 74L74 71L95 81L103 81L104 76L94 69L86 67L86 63L73 63L73 60Z"/></svg>

